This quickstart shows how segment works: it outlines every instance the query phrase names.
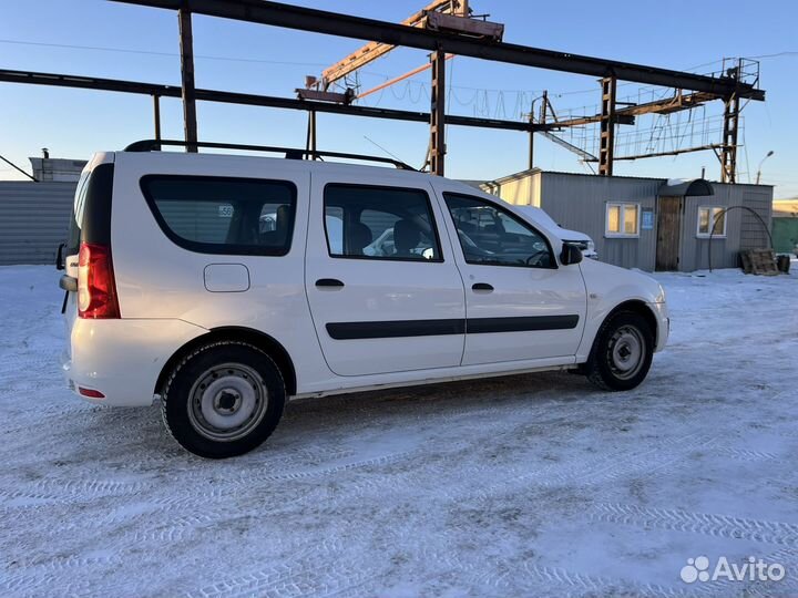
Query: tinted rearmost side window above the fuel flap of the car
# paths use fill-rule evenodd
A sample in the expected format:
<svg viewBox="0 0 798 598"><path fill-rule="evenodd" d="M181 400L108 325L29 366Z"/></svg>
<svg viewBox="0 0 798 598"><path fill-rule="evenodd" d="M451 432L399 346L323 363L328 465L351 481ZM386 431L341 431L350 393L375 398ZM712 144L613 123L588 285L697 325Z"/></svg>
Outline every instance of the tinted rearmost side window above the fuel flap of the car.
<svg viewBox="0 0 798 598"><path fill-rule="evenodd" d="M290 249L293 183L150 175L141 186L162 230L185 249L260 256L284 256Z"/></svg>

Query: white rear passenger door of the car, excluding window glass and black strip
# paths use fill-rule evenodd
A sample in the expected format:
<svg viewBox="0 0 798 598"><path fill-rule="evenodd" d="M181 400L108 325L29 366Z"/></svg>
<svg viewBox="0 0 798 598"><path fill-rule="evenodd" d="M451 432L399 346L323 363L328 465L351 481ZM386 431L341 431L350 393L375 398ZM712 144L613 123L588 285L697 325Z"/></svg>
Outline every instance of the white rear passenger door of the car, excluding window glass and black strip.
<svg viewBox="0 0 798 598"><path fill-rule="evenodd" d="M464 334L341 341L327 333L325 327L329 322L466 318L462 280L446 239L441 240L441 249L450 259L443 262L330 257L321 226L324 188L328 183L420 189L431 196L438 223L443 214L424 179L412 183L407 177L387 179L379 169L368 174L314 175L305 283L316 334L329 369L338 375L365 375L459 365ZM315 282L324 278L340 280L345 286L317 287Z"/></svg>

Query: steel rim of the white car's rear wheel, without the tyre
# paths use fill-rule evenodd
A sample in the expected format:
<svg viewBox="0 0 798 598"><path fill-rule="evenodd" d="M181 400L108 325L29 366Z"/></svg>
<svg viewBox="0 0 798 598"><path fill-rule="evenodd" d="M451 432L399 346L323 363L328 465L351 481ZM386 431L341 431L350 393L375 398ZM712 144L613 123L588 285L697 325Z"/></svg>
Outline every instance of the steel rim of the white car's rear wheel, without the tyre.
<svg viewBox="0 0 798 598"><path fill-rule="evenodd" d="M223 363L205 370L188 394L188 419L200 434L233 442L263 421L268 391L260 375L243 363Z"/></svg>

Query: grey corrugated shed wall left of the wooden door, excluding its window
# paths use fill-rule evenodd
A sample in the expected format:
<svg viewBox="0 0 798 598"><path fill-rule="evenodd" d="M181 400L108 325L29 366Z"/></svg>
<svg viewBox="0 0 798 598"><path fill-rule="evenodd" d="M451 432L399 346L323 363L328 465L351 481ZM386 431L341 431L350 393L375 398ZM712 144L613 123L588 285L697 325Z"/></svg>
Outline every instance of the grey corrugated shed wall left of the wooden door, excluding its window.
<svg viewBox="0 0 798 598"><path fill-rule="evenodd" d="M559 225L587 233L595 241L602 261L624 268L654 269L655 228L641 229L640 238L605 238L604 227L607 203L633 202L640 203L641 210L655 209L662 179L564 173L539 173L535 176L542 177L540 207Z"/></svg>

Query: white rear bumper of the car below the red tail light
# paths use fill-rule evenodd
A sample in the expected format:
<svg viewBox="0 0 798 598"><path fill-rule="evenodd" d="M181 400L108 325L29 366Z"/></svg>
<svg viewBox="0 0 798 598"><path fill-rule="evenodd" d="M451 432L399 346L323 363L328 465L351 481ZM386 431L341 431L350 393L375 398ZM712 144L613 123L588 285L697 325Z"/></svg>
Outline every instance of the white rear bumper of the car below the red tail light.
<svg viewBox="0 0 798 598"><path fill-rule="evenodd" d="M96 404L145 406L166 361L186 342L207 332L183 320L76 319L61 368L72 391ZM80 393L96 391L103 398ZM90 394L95 394L91 393Z"/></svg>

